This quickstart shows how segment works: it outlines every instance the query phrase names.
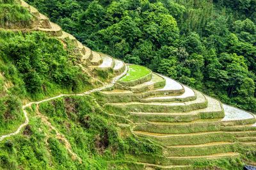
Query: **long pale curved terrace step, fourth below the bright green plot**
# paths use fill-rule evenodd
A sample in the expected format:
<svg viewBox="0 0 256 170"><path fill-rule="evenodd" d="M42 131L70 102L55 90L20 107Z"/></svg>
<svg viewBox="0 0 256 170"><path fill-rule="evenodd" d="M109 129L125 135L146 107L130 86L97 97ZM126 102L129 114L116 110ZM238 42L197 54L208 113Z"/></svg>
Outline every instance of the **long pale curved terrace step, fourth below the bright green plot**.
<svg viewBox="0 0 256 170"><path fill-rule="evenodd" d="M129 112L189 112L207 107L207 99L204 95L196 91L196 100L189 102L169 102L169 103L108 103L111 107L118 107Z"/></svg>

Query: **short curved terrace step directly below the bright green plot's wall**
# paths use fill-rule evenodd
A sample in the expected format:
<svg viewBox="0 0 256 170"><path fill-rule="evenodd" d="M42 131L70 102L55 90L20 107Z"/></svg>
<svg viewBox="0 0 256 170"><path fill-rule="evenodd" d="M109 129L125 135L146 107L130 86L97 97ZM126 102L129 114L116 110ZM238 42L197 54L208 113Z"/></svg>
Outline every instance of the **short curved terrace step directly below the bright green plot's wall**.
<svg viewBox="0 0 256 170"><path fill-rule="evenodd" d="M152 73L152 78L150 81L143 82L142 84L138 84L136 86L127 87L132 93L141 93L148 90L153 90L156 88L163 87L165 85L165 79L163 77L157 75L156 73Z"/></svg>

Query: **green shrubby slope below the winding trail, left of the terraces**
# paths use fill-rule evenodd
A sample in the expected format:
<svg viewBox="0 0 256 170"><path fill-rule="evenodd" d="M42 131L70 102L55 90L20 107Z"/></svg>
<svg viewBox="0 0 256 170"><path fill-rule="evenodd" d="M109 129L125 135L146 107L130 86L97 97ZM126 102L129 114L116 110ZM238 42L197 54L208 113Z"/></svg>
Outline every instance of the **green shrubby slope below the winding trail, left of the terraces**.
<svg viewBox="0 0 256 170"><path fill-rule="evenodd" d="M138 137L121 138L115 118L102 111L92 97L65 97L40 104L40 113L55 130L33 108L23 132L0 143L0 169L129 169L127 162L134 161L129 155L153 158L161 151ZM72 160L58 132L82 163Z"/></svg>

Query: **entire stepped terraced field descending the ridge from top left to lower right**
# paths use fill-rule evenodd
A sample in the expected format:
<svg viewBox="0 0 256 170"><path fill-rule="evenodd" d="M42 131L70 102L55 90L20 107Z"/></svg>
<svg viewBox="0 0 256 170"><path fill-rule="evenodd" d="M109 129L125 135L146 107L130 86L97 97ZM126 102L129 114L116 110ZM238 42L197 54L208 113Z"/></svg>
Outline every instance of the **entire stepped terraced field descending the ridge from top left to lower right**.
<svg viewBox="0 0 256 170"><path fill-rule="evenodd" d="M237 147L256 146L256 119L250 112L221 104L143 66L126 65L95 52L29 4L20 3L36 19L35 27L25 31L44 31L61 41L76 43L82 66L91 70L112 69L115 75L122 75L126 66L129 68L118 82L111 82L115 83L113 88L100 94L106 99L106 110L124 111L116 112L116 116L123 116L129 123L120 125L163 147L163 157L157 160L138 158L138 164L145 169L191 169L197 160L237 158Z"/></svg>

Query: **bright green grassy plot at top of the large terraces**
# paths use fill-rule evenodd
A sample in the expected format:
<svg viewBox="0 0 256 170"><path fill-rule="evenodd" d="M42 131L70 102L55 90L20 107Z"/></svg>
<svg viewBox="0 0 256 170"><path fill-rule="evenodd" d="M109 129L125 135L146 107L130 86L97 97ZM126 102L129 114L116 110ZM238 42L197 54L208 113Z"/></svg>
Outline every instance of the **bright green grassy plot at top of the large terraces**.
<svg viewBox="0 0 256 170"><path fill-rule="evenodd" d="M130 65L129 71L127 75L125 75L120 81L134 81L136 79L140 79L141 77L145 77L150 73L150 70L144 66L139 65Z"/></svg>

